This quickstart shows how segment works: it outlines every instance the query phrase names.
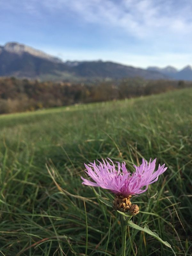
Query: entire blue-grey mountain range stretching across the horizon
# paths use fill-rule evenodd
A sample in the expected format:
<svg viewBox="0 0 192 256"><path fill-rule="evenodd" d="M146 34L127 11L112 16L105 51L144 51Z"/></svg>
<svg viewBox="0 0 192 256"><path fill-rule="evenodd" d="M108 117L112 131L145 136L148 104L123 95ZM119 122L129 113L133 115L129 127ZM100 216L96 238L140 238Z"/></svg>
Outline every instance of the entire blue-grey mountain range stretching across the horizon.
<svg viewBox="0 0 192 256"><path fill-rule="evenodd" d="M16 42L0 46L0 76L40 80L92 80L142 77L192 80L192 68L135 68L111 61L66 61Z"/></svg>

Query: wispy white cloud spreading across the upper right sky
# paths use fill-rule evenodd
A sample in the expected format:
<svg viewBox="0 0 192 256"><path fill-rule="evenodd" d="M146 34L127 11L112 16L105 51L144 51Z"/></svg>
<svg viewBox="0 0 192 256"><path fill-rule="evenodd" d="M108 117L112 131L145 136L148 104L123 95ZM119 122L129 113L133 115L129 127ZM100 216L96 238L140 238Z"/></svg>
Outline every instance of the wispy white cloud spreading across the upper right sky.
<svg viewBox="0 0 192 256"><path fill-rule="evenodd" d="M83 20L124 29L136 37L187 34L192 30L191 1L154 0L43 0L50 11L75 12Z"/></svg>

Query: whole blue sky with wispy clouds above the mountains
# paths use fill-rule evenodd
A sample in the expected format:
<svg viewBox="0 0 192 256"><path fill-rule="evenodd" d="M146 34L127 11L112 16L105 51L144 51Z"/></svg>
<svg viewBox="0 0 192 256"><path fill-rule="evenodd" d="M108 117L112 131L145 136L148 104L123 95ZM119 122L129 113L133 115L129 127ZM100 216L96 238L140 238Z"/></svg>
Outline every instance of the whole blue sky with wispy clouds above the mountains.
<svg viewBox="0 0 192 256"><path fill-rule="evenodd" d="M192 64L191 0L0 0L0 44L63 60Z"/></svg>

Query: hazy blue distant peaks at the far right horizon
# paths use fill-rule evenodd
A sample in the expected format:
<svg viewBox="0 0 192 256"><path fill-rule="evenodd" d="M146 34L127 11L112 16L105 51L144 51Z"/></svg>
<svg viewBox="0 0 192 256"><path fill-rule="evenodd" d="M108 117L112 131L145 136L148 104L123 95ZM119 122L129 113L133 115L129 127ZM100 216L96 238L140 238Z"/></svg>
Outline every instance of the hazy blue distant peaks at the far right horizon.
<svg viewBox="0 0 192 256"><path fill-rule="evenodd" d="M165 76L168 76L172 79L177 80L192 80L192 68L190 65L184 67L181 70L178 70L172 66L167 66L165 68L158 68L158 67L148 67L147 70L149 71L158 71Z"/></svg>

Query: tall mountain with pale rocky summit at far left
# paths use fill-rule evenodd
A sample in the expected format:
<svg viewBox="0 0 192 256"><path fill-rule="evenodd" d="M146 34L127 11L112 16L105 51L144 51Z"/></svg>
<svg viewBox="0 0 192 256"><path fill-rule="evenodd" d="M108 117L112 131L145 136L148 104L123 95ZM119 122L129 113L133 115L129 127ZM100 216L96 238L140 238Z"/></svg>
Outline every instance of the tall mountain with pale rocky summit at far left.
<svg viewBox="0 0 192 256"><path fill-rule="evenodd" d="M18 43L0 48L0 76L18 78L58 77L68 66L60 59Z"/></svg>

